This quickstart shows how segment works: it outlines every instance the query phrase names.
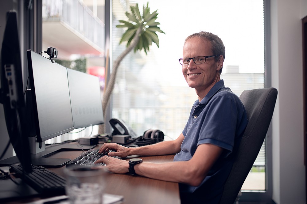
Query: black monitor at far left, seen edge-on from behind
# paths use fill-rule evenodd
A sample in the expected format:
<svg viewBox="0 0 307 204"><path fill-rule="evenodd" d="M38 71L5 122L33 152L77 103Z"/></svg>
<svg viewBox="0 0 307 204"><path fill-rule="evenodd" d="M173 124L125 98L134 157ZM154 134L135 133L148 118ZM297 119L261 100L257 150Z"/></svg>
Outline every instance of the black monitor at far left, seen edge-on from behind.
<svg viewBox="0 0 307 204"><path fill-rule="evenodd" d="M0 59L0 102L3 104L7 131L17 158L24 171L31 172L29 138L25 129L25 101L17 13L9 11L6 17Z"/></svg>

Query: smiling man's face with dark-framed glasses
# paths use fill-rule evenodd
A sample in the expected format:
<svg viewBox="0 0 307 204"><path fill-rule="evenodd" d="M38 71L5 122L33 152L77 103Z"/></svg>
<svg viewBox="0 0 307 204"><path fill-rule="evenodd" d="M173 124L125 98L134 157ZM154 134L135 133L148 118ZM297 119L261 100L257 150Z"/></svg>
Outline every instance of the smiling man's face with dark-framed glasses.
<svg viewBox="0 0 307 204"><path fill-rule="evenodd" d="M183 46L183 57L209 56L220 53L212 53L211 43L199 37L189 39ZM188 85L196 92L206 92L220 81L220 69L223 66L223 57L216 62L214 57L207 58L205 63L195 64L193 60L189 65L182 66L182 73Z"/></svg>

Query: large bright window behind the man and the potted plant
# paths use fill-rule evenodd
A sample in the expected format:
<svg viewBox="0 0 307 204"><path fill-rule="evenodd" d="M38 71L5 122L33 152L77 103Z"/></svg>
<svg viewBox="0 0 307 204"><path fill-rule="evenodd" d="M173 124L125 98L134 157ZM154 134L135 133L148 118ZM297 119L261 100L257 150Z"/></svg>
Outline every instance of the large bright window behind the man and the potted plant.
<svg viewBox="0 0 307 204"><path fill-rule="evenodd" d="M147 1L113 0L113 60L125 49L119 45L130 5ZM264 2L236 1L149 1L158 10L157 22L166 34L157 33L159 46L150 51L130 52L122 60L113 92L112 117L120 118L142 135L149 128L163 131L166 140L179 136L197 95L188 87L178 59L185 38L199 31L220 36L226 47L221 78L238 96L246 89L264 88ZM265 143L243 190L266 190Z"/></svg>

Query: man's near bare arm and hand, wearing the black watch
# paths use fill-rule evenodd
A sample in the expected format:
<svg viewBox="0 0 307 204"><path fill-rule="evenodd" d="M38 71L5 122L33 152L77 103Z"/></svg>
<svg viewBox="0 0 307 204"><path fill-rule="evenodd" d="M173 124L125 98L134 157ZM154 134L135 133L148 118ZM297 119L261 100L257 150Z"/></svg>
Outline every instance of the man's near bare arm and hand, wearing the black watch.
<svg viewBox="0 0 307 204"><path fill-rule="evenodd" d="M223 149L212 144L202 144L196 149L195 154L189 161L175 161L167 163L142 162L134 166L138 175L152 179L186 183L198 186L207 176L208 171L220 157ZM127 173L128 161L114 157L104 156L99 159L104 162L109 171L115 173Z"/></svg>

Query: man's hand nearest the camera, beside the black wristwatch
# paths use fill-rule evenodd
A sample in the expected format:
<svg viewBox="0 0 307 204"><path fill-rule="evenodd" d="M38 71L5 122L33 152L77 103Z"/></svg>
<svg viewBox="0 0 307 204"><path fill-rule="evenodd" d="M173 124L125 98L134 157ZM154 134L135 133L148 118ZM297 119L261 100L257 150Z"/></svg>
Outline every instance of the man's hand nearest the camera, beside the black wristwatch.
<svg viewBox="0 0 307 204"><path fill-rule="evenodd" d="M110 172L114 172L117 174L125 174L129 172L129 163L126 160L103 156L97 161L95 161L95 164L98 163L105 163Z"/></svg>

